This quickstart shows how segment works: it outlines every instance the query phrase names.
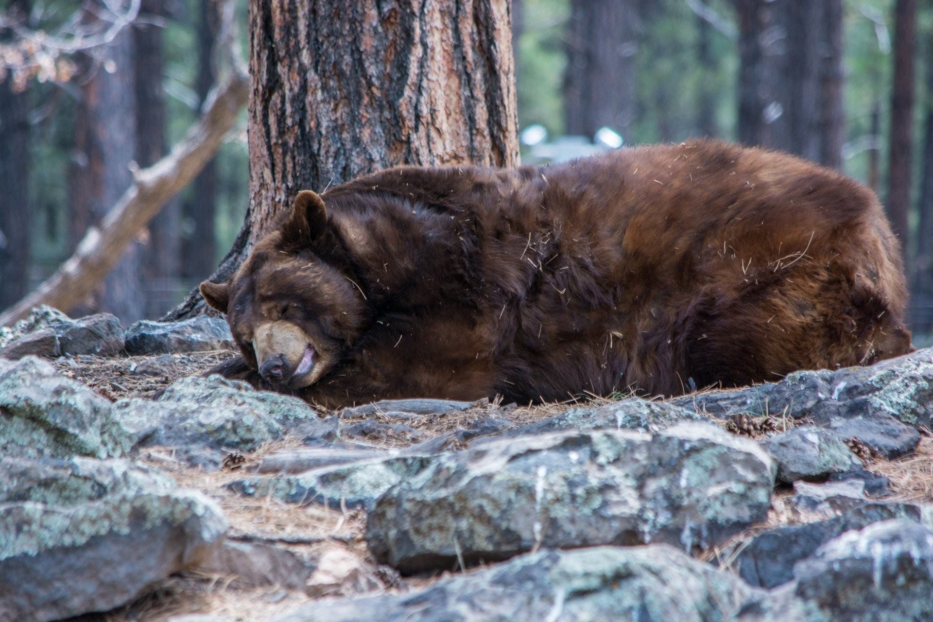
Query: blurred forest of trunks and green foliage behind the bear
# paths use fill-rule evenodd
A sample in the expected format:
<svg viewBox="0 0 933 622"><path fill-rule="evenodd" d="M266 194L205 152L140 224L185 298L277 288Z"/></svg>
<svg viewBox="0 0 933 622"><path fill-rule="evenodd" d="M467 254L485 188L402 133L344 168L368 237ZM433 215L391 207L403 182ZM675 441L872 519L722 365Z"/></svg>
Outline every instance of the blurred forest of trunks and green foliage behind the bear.
<svg viewBox="0 0 933 622"><path fill-rule="evenodd" d="M132 181L126 162L182 138L218 35L213 0L135 0L125 28L117 0L4 2L0 310L71 256ZM238 2L244 51L246 14ZM933 0L513 0L512 17L522 161L715 136L840 169L884 201L912 327L933 330ZM58 47L16 71L36 32ZM91 38L111 35L95 62ZM249 202L246 117L132 244L125 287L73 314L158 318L215 270Z"/></svg>

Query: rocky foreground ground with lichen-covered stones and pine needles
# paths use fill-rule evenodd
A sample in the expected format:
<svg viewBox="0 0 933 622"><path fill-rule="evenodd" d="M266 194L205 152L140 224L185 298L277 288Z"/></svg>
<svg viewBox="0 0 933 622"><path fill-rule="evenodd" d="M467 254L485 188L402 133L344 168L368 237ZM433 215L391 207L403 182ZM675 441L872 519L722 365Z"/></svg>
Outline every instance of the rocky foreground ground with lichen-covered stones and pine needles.
<svg viewBox="0 0 933 622"><path fill-rule="evenodd" d="M208 318L0 329L0 621L933 618L933 350L323 412L200 377L231 345Z"/></svg>

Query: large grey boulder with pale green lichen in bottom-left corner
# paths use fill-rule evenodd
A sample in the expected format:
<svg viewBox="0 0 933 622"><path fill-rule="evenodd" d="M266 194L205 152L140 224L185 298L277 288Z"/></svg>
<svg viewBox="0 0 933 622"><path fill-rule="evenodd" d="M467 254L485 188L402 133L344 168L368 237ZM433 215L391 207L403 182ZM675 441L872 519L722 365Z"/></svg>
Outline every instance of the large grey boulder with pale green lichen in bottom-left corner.
<svg viewBox="0 0 933 622"><path fill-rule="evenodd" d="M122 460L4 458L0 612L24 622L104 612L209 557L213 502Z"/></svg>

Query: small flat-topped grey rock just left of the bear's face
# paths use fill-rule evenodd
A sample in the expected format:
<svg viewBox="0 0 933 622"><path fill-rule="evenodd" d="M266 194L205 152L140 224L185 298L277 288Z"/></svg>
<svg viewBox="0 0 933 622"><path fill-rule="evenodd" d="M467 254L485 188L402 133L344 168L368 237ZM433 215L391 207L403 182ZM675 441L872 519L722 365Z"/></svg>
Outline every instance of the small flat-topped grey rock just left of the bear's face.
<svg viewBox="0 0 933 622"><path fill-rule="evenodd" d="M126 351L130 354L172 354L234 350L236 343L227 322L199 315L181 322L143 320L126 331Z"/></svg>

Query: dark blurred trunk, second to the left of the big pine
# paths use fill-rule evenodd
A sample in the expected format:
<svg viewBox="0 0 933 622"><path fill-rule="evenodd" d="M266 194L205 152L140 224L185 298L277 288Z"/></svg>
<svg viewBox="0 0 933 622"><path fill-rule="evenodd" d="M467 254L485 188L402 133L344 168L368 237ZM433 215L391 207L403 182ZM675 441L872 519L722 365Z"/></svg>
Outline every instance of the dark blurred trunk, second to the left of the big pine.
<svg viewBox="0 0 933 622"><path fill-rule="evenodd" d="M140 7L143 18L165 18L161 0L143 0ZM136 163L151 166L169 151L166 137L165 99L162 89L162 28L145 19L132 30L135 60L136 96ZM149 224L148 244L144 248L143 263L148 283L178 276L181 244L179 242L181 205L170 200ZM165 312L164 301L149 299L150 317Z"/></svg>

